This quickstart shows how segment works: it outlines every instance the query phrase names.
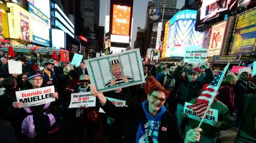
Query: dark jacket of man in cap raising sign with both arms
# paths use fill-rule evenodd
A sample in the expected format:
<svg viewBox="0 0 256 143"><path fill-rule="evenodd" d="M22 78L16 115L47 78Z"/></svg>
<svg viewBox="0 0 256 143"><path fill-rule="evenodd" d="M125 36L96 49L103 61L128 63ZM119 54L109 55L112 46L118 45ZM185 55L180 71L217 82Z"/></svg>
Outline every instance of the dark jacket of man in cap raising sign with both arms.
<svg viewBox="0 0 256 143"><path fill-rule="evenodd" d="M189 82L188 79L181 79L179 77L179 72L181 67L178 66L174 73L174 79L176 81L177 87L179 88L178 102L183 105L185 102L189 102L192 98L198 97L200 90L203 88L204 84L208 84L213 80L212 69L205 69L206 76L203 81Z"/></svg>

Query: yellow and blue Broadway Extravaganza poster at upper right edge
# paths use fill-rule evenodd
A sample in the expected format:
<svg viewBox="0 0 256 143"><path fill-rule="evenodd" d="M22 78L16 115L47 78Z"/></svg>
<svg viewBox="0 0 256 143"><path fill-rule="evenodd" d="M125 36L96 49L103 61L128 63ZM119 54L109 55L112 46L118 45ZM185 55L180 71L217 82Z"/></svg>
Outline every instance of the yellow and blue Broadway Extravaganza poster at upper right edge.
<svg viewBox="0 0 256 143"><path fill-rule="evenodd" d="M230 54L254 54L256 39L255 16L256 9L237 15Z"/></svg>

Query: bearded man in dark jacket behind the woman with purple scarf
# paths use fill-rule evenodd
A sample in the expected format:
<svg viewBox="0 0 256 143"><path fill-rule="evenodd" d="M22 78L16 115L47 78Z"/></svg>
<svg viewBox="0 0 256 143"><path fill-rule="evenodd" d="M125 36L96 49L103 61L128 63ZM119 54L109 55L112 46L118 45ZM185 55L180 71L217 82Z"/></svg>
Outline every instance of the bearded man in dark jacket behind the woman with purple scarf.
<svg viewBox="0 0 256 143"><path fill-rule="evenodd" d="M44 75L44 80L46 81L47 86L57 87L57 77L54 71L52 71L53 64L50 62L44 63L44 70L42 70L42 73ZM50 80L51 79L51 80Z"/></svg>

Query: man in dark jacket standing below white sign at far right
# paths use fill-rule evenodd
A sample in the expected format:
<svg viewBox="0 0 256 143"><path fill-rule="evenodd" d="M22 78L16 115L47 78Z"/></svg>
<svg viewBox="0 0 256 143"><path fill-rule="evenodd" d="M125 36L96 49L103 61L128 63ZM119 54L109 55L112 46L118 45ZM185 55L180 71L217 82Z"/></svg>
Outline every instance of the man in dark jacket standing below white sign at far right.
<svg viewBox="0 0 256 143"><path fill-rule="evenodd" d="M236 85L233 87L233 91L236 94L236 125L240 125L240 120L244 116L243 107L245 105L245 101L252 96L252 92L256 91L256 86L252 81L249 81L249 73L242 72L240 78L236 82Z"/></svg>

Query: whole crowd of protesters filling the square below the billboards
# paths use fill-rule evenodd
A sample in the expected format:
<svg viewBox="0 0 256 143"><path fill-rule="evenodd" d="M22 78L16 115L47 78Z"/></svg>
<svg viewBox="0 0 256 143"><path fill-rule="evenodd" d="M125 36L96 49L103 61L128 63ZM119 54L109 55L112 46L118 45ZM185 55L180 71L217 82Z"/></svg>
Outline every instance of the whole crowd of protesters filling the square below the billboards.
<svg viewBox="0 0 256 143"><path fill-rule="evenodd" d="M8 60L0 60L5 89L0 95L0 143L216 143L220 131L233 125L240 128L239 137L256 142L255 76L250 81L247 72L225 75L211 106L218 110L218 121L197 128L200 121L183 111L185 102L194 104L221 71L212 70L207 61L200 67L184 61L143 65L144 83L99 93L83 61L77 67L56 59L38 64L31 57L12 57L22 62L22 74L9 74ZM55 102L20 108L16 91L52 85ZM96 106L68 108L71 94L82 92L97 97ZM116 107L105 97L126 105ZM100 113L100 107L106 113Z"/></svg>

